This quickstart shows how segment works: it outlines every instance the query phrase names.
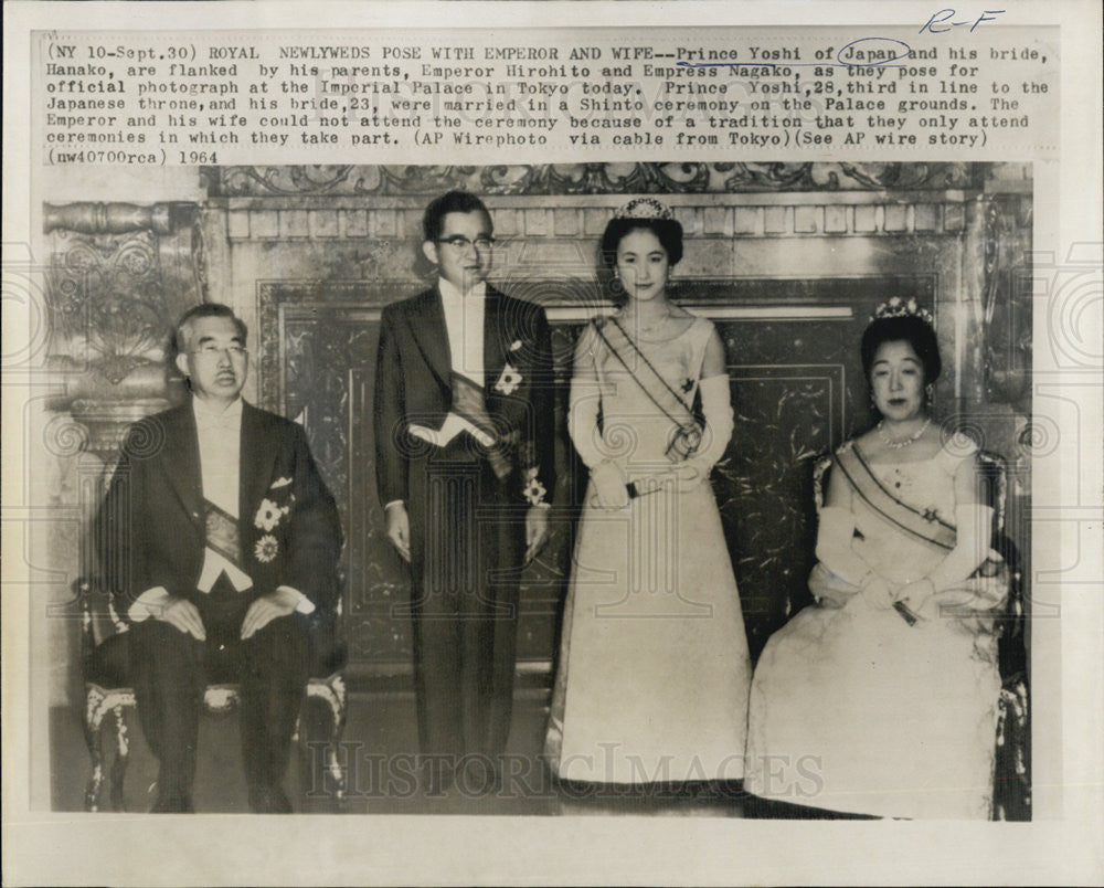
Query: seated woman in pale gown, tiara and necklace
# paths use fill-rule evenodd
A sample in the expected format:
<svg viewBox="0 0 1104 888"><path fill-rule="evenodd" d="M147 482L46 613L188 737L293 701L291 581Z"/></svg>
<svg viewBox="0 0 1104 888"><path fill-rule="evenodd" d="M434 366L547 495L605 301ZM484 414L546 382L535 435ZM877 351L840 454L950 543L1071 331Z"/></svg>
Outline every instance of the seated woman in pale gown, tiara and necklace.
<svg viewBox="0 0 1104 888"><path fill-rule="evenodd" d="M941 361L914 302L879 309L862 362L882 419L836 453L817 603L756 666L744 785L832 812L988 818L1008 584L977 448L927 413Z"/></svg>

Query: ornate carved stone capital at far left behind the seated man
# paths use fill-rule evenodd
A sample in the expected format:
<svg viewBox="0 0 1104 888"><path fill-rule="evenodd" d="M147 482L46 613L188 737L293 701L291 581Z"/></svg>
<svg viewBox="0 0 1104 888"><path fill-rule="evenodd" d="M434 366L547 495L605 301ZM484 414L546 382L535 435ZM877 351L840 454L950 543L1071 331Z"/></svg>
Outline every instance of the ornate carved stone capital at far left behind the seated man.
<svg viewBox="0 0 1104 888"><path fill-rule="evenodd" d="M166 376L176 319L205 296L193 203L45 204L50 235L49 360L65 381L54 399L114 455L127 424L173 398Z"/></svg>

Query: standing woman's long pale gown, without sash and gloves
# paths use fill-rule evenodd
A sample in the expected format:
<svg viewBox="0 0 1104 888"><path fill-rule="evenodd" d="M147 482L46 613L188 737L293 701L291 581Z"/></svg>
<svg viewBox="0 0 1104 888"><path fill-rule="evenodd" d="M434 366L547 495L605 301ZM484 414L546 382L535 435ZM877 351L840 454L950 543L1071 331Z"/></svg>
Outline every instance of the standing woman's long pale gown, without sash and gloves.
<svg viewBox="0 0 1104 888"><path fill-rule="evenodd" d="M697 318L675 339L638 342L687 404L712 330ZM591 328L584 336L605 446L629 479L669 469L671 421ZM711 486L669 486L618 511L592 508L593 496L565 605L545 744L553 769L618 784L741 778L751 667Z"/></svg>

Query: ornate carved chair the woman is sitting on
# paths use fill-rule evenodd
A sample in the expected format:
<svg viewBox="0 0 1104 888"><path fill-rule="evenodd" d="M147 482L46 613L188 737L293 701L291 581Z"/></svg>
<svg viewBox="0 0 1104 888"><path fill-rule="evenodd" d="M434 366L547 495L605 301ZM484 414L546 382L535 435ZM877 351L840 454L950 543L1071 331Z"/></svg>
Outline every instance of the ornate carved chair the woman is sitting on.
<svg viewBox="0 0 1104 888"><path fill-rule="evenodd" d="M813 495L817 515L824 507L830 454L813 464ZM1031 719L1028 708L1028 655L1023 637L1025 610L1019 552L1005 533L1008 471L1004 457L978 452L978 468L992 506L992 548L1008 563L1011 588L998 621L1000 701L994 768L992 818L1031 820Z"/></svg>

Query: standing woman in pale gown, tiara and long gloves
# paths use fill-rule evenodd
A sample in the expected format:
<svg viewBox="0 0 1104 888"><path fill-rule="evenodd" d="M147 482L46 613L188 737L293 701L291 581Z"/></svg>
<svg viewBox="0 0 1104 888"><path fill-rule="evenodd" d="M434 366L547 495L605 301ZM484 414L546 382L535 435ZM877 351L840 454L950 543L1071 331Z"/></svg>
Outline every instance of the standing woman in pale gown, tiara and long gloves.
<svg viewBox="0 0 1104 888"><path fill-rule="evenodd" d="M682 226L668 208L619 210L602 255L623 305L575 351L569 431L591 476L546 757L569 781L736 780L751 668L709 484L733 430L724 347L669 298Z"/></svg>

